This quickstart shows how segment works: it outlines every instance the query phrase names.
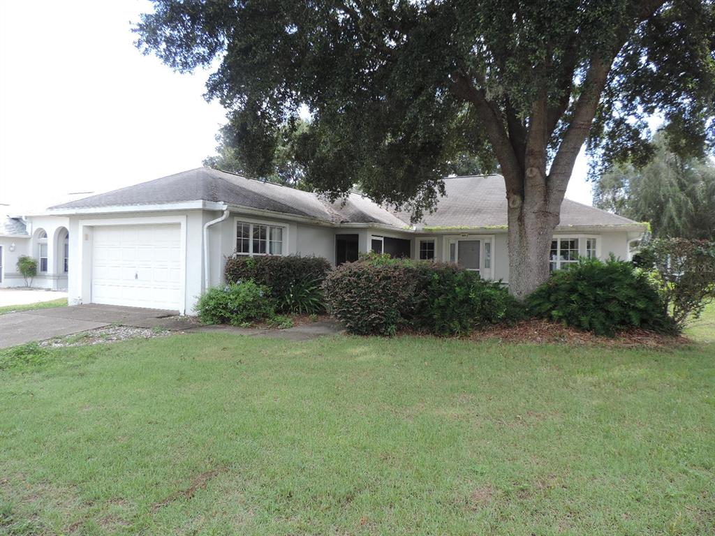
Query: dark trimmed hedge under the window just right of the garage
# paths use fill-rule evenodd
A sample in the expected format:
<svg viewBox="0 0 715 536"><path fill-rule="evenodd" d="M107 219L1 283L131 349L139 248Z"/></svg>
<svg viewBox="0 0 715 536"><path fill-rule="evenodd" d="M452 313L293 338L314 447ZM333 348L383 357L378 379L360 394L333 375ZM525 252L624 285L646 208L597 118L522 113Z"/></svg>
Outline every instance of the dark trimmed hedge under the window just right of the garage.
<svg viewBox="0 0 715 536"><path fill-rule="evenodd" d="M280 312L322 312L320 285L330 271L322 257L265 255L226 259L225 279L229 283L253 279L271 289Z"/></svg>

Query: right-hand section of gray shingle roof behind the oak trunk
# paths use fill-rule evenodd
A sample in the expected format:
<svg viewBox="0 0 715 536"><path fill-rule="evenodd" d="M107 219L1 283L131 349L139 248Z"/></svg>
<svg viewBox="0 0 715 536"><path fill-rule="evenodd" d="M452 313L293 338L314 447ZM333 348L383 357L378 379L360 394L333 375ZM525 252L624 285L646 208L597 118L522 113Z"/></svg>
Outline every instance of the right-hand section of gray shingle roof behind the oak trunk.
<svg viewBox="0 0 715 536"><path fill-rule="evenodd" d="M448 177L446 195L432 214L425 214L425 227L501 227L507 224L504 178L501 175ZM410 216L398 216L409 221ZM561 204L561 227L632 225L633 220L605 210L564 199Z"/></svg>

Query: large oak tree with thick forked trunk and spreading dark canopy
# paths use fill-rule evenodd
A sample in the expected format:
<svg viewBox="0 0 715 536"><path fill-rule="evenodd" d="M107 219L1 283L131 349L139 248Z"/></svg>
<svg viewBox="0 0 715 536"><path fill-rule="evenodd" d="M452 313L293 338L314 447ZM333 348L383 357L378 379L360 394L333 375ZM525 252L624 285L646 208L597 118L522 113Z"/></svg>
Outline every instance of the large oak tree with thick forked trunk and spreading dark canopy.
<svg viewBox="0 0 715 536"><path fill-rule="evenodd" d="M334 197L360 184L419 217L456 155L498 162L524 297L548 277L584 142L603 163L644 161L658 113L677 152L712 146L714 14L711 0L155 0L136 31L174 69L214 69L207 96L257 174L301 106L297 159Z"/></svg>

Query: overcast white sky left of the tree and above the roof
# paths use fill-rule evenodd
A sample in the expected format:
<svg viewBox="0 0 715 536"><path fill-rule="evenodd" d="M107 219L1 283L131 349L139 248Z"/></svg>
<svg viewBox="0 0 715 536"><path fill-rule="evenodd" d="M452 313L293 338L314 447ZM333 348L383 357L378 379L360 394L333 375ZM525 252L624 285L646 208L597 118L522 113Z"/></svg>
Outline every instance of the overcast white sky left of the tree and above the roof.
<svg viewBox="0 0 715 536"><path fill-rule="evenodd" d="M42 209L199 167L225 110L207 71L134 47L144 0L0 0L0 203ZM591 204L586 158L566 197Z"/></svg>

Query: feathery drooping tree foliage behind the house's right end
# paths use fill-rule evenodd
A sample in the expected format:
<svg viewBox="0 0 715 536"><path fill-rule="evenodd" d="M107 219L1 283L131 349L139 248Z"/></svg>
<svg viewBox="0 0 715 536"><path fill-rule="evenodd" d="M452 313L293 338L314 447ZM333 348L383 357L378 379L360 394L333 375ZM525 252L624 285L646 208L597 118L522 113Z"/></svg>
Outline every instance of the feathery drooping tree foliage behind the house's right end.
<svg viewBox="0 0 715 536"><path fill-rule="evenodd" d="M715 166L671 152L664 134L656 137L654 159L645 167L619 164L601 174L594 201L601 209L650 222L656 236L715 237Z"/></svg>

